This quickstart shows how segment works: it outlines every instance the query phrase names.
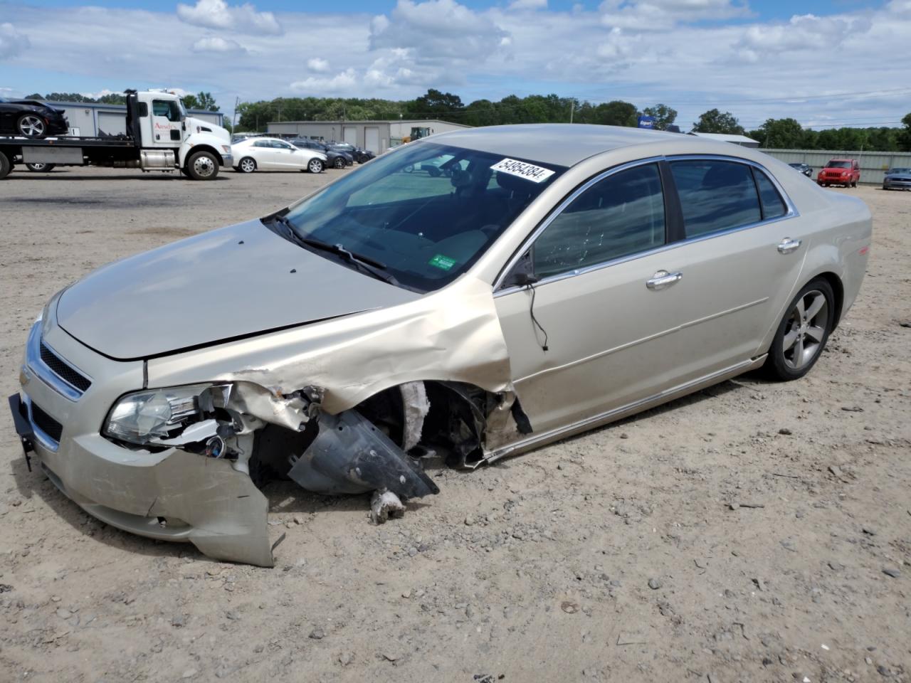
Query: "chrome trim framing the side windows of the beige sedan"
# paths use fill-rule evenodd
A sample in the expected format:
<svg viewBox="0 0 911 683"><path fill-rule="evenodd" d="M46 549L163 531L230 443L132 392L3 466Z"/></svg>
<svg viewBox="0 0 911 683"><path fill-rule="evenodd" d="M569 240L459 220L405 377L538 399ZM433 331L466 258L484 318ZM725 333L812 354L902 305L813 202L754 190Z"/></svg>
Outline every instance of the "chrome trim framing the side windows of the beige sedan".
<svg viewBox="0 0 911 683"><path fill-rule="evenodd" d="M778 178L775 178L774 174L770 173L768 168L765 168L762 164L760 164L756 161L752 161L751 159L740 158L740 157L726 157L721 154L684 154L684 155L674 155L671 157L650 157L650 158L638 159L636 161L630 161L625 164L620 164L619 166L609 168L609 169L599 173L599 175L594 176L593 178L589 178L589 180L586 181L583 185L581 185L577 189L575 189L568 196L567 199L564 199L562 202L560 202L560 204L558 205L558 208L553 213L551 213L548 216L548 218L544 219L541 222L541 224L539 226L537 226L537 228L531 232L530 236L524 242L522 242L522 246L517 250L517 252L512 256L512 258L507 261L507 266L503 270L500 270L499 275L496 276L496 280L494 281L494 297L505 296L507 294L512 294L516 291L522 291L522 290L526 289L525 286L519 286L519 285L516 285L513 287L507 287L504 289L498 289L498 288L502 284L503 280L506 279L507 274L516 265L517 261L520 258L522 258L522 255L529 249L529 247L531 247L532 244L534 244L534 242L535 242L535 240L537 240L538 236L542 232L544 232L544 230L548 229L548 226L550 225L550 223L553 222L553 220L556 219L568 207L569 204L571 204L575 199L577 199L580 194L585 192L587 189L591 188L592 185L598 183L603 178L607 178L608 176L613 175L614 173L619 173L622 170L626 170L628 168L635 168L637 166L643 166L645 164L654 164L654 163L658 163L660 161L672 162L672 161L703 161L703 160L731 161L734 163L741 163L741 164L745 164L747 166L752 166L754 168L758 168L759 170L763 171L763 173L765 174L765 177L769 178L769 180L770 180L770 182L772 182L774 188L777 189L778 193L782 196L782 199L784 201L784 206L787 209L786 212L782 216L776 216L773 219L764 219L764 220L760 220L755 223L747 223L746 225L740 225L735 228L715 230L714 232L707 232L704 235L699 235L697 237L684 238L683 240L668 242L666 244L661 245L660 247L656 247L655 249L650 249L650 250L646 250L646 251L637 251L634 254L628 254L627 256L621 256L617 259L606 260L606 261L602 261L600 263L593 263L592 265L586 266L585 268L567 270L566 272L559 273L558 275L551 275L547 278L542 278L541 280L538 280L534 286L538 287L542 284L548 284L549 282L557 282L559 280L566 280L568 278L574 278L577 275L584 275L586 273L592 272L593 270L601 270L602 268L608 268L609 266L614 266L619 263L626 263L627 261L630 261L630 260L642 259L646 256L658 254L662 251L677 249L678 247L681 247L685 244L693 244L693 243L701 242L704 240L713 240L716 237L721 237L722 235L727 235L727 234L730 234L733 232L740 232L741 230L753 229L753 228L757 228L762 225L771 225L772 223L777 223L781 220L793 219L793 218L800 216L800 213L797 211L797 209L793 205L793 201L791 201L791 197L788 195L787 192L784 191L784 188L782 187L781 183L778 182ZM662 191L663 191L663 189L662 189ZM676 188L675 188L675 191L676 191ZM759 202L758 192L757 192L757 196L756 196L756 201ZM762 210L762 209L760 209L760 210Z"/></svg>

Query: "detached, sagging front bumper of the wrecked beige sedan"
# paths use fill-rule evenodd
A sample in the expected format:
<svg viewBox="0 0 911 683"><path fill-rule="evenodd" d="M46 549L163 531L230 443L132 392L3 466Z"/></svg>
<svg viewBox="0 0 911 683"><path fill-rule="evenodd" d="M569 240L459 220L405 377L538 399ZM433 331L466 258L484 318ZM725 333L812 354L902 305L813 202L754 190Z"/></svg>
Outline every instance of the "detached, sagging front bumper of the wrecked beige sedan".
<svg viewBox="0 0 911 683"><path fill-rule="evenodd" d="M48 348L93 378L74 398L34 351L40 331L37 323L20 372L22 390L9 399L30 464L37 462L89 515L118 529L189 542L218 559L272 566L269 504L249 474L228 460L174 448L131 450L98 433L118 396L141 386L141 363L103 358L51 329Z"/></svg>

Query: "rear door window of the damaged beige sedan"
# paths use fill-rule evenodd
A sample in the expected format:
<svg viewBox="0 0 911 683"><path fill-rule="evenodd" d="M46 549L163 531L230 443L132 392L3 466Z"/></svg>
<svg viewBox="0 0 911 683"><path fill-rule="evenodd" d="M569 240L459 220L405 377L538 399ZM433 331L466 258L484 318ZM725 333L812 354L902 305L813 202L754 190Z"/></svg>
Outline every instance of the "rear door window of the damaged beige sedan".
<svg viewBox="0 0 911 683"><path fill-rule="evenodd" d="M688 238L763 219L750 167L733 161L671 161Z"/></svg>

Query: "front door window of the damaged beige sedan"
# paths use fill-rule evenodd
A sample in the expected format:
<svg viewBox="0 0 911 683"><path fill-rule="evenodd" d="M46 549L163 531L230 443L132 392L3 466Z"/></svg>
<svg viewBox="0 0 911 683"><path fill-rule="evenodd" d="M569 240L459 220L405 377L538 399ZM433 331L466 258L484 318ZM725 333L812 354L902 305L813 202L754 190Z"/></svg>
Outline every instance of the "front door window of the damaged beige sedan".
<svg viewBox="0 0 911 683"><path fill-rule="evenodd" d="M537 278L586 268L665 243L657 164L614 173L586 189L535 240Z"/></svg>

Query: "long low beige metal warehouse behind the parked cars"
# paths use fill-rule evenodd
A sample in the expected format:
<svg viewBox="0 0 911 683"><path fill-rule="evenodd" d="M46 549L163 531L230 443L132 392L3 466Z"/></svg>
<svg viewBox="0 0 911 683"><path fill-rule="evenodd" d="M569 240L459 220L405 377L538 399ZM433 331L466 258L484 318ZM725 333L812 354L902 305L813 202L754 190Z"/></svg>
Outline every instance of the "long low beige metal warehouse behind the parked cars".
<svg viewBox="0 0 911 683"><path fill-rule="evenodd" d="M439 119L396 119L391 121L281 121L270 123L266 131L282 137L297 136L317 140L350 142L355 147L382 154L402 138L423 138L434 133L467 128L460 123ZM428 128L423 134L415 129Z"/></svg>

